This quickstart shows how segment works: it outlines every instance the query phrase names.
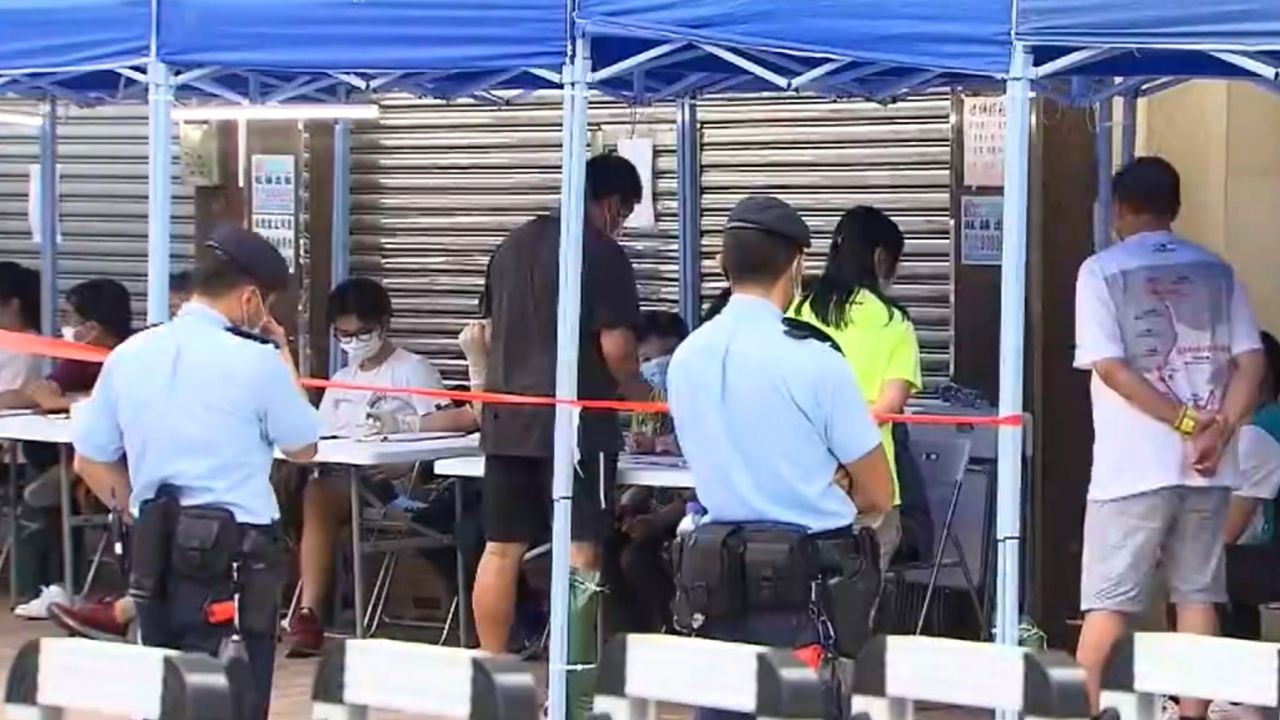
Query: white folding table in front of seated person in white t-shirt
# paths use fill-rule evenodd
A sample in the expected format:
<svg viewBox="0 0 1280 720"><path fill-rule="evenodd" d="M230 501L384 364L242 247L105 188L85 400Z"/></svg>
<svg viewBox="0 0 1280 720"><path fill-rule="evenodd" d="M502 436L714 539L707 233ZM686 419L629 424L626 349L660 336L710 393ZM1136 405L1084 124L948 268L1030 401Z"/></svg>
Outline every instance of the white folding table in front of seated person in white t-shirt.
<svg viewBox="0 0 1280 720"><path fill-rule="evenodd" d="M351 571L352 594L355 594L356 637L366 634L364 544L361 543L362 512L360 509L361 468L375 465L408 465L430 462L447 457L465 457L480 452L480 436L458 436L456 433L412 433L410 436L381 436L372 438L340 438L320 441L315 464L346 465L351 480ZM276 457L284 459L276 452ZM462 495L454 493L454 512L461 514ZM458 559L458 585L466 582L466 570ZM461 591L460 591L461 592ZM461 603L461 601L460 601Z"/></svg>

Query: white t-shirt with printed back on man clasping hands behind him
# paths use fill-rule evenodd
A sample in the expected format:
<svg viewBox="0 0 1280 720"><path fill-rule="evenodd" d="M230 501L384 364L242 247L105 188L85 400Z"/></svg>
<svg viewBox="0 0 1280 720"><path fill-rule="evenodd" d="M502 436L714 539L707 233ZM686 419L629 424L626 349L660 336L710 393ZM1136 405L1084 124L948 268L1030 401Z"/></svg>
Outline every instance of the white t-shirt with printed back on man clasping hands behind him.
<svg viewBox="0 0 1280 720"><path fill-rule="evenodd" d="M1231 357L1261 341L1244 288L1222 259L1169 232L1139 233L1089 258L1075 288L1075 366L1125 360L1179 404L1217 411ZM1234 448L1202 478L1171 427L1093 374L1089 500L1170 486L1238 484Z"/></svg>

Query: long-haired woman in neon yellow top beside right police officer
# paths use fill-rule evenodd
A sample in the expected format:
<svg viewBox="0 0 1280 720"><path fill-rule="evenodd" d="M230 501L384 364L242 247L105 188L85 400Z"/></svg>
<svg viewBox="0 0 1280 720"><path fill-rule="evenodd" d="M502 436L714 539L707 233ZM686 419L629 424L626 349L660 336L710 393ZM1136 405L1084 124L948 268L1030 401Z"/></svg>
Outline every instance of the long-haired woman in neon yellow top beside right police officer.
<svg viewBox="0 0 1280 720"><path fill-rule="evenodd" d="M873 414L897 414L920 389L920 346L906 310L886 295L905 246L902 231L888 215L860 205L845 213L827 252L822 275L792 309L795 318L817 325L840 346ZM893 457L892 424L881 427L884 451ZM859 518L876 528L881 565L887 566L902 537L897 468L893 510Z"/></svg>

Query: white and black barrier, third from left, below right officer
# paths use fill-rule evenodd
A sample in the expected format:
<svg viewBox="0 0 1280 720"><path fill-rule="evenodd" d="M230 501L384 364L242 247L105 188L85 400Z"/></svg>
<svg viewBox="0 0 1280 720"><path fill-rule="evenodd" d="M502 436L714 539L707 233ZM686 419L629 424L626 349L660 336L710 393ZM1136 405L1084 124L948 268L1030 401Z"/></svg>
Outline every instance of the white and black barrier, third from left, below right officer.
<svg viewBox="0 0 1280 720"><path fill-rule="evenodd" d="M760 720L820 719L818 674L790 650L677 635L620 635L600 656L593 720L646 720L669 702Z"/></svg>

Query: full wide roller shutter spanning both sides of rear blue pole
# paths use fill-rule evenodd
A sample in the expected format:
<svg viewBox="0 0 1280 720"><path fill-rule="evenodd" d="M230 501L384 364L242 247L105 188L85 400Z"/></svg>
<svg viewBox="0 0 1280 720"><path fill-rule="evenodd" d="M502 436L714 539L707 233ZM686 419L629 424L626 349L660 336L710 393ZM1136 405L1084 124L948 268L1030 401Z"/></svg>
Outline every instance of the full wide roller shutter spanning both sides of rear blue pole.
<svg viewBox="0 0 1280 720"><path fill-rule="evenodd" d="M920 331L925 373L950 373L950 100L890 108L806 99L704 102L704 288L718 290L719 227L748 192L794 202L826 251L849 206L874 204L908 233L897 292ZM641 301L675 309L675 110L593 104L594 143L632 128L654 138L658 232L626 245ZM516 108L387 101L352 133L352 272L392 291L396 336L463 377L456 336L474 318L489 252L513 225L554 208L559 192L558 102Z"/></svg>

